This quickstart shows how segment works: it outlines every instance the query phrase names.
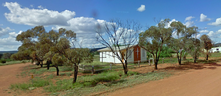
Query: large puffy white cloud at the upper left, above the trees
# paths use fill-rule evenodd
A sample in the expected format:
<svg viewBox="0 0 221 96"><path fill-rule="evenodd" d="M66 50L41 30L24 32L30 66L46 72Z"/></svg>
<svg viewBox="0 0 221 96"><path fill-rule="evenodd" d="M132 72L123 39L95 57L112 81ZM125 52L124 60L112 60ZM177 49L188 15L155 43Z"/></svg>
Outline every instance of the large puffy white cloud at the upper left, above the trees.
<svg viewBox="0 0 221 96"><path fill-rule="evenodd" d="M8 21L24 25L68 25L67 21L75 16L74 11L65 10L62 12L48 9L21 8L17 2L6 2L4 4L10 10L5 13Z"/></svg>

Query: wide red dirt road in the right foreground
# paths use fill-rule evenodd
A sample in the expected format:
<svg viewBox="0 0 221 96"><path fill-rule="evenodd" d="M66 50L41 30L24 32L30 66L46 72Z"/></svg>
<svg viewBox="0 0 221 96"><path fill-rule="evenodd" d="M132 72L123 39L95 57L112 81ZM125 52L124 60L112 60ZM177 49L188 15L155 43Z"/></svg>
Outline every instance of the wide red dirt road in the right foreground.
<svg viewBox="0 0 221 96"><path fill-rule="evenodd" d="M221 64L219 62L219 64ZM120 89L109 96L221 96L221 67L190 72Z"/></svg>

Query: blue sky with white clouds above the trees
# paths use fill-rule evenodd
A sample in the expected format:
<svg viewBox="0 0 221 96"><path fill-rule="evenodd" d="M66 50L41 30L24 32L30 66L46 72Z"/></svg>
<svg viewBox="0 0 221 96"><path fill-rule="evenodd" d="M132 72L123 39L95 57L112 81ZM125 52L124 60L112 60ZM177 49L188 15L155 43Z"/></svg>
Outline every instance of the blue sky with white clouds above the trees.
<svg viewBox="0 0 221 96"><path fill-rule="evenodd" d="M16 36L38 25L46 31L73 30L83 47L101 47L95 26L111 19L135 20L147 30L169 18L197 26L198 37L206 34L221 43L220 4L221 0L1 0L0 51L17 50L21 42Z"/></svg>

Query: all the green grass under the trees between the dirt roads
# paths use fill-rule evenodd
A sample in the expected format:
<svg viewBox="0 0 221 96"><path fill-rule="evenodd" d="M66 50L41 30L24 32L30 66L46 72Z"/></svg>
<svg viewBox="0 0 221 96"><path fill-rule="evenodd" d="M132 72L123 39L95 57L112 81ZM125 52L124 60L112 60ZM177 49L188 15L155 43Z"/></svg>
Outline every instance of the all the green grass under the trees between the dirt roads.
<svg viewBox="0 0 221 96"><path fill-rule="evenodd" d="M190 60L190 59L189 59ZM160 59L159 63L162 63ZM177 63L177 58L164 58L164 63ZM99 55L95 55L93 63L82 63L84 65L104 65L109 63L99 62ZM141 63L149 64L149 63ZM152 62L151 62L152 64ZM45 66L45 65L44 65ZM63 76L73 75L73 68L70 66L59 66L60 76L56 76L56 73L51 75L42 76L45 72L56 72L54 67L39 68L40 66L30 65L26 71L22 72L23 75L35 75L33 85L31 81L28 83L12 84L11 89L29 90L30 87L43 87L46 92L50 92L52 95L64 95L68 96L79 96L89 95L92 93L114 91L119 88L130 87L136 84L149 82L152 80L159 80L171 76L170 72L150 72L145 74L138 74L136 72L129 71L128 75L124 75L121 64L113 65L112 68L116 67L119 71L104 71L95 75L83 75L78 76L77 82L72 84L73 77L71 79L63 79ZM98 67L109 68L110 66ZM132 69L137 67L137 64L128 64L128 68ZM31 69L31 70L30 70ZM91 69L91 67L89 68ZM96 69L96 68L95 68ZM61 77L61 78L59 78ZM56 78L56 79L55 79ZM69 77L68 77L69 78ZM34 81L33 80L33 81ZM39 81L39 82L38 82ZM52 83L55 82L55 83Z"/></svg>

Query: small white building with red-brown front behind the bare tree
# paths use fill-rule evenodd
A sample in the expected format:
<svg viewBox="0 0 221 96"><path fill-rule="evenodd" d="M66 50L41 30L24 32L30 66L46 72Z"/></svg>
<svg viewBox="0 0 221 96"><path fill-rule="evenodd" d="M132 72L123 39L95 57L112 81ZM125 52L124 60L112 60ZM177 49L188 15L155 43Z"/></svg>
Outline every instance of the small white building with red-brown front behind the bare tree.
<svg viewBox="0 0 221 96"><path fill-rule="evenodd" d="M120 52L114 48L113 50L119 54L119 56L122 54L122 56L124 56L123 58L125 58L126 54L131 54L127 59L128 63L147 61L147 52L143 48L139 47L138 45L132 45L129 47L128 52L126 52L126 48L127 46L120 46ZM98 50L98 52L100 52L100 62L121 63L121 61L113 54L110 48L103 48Z"/></svg>

